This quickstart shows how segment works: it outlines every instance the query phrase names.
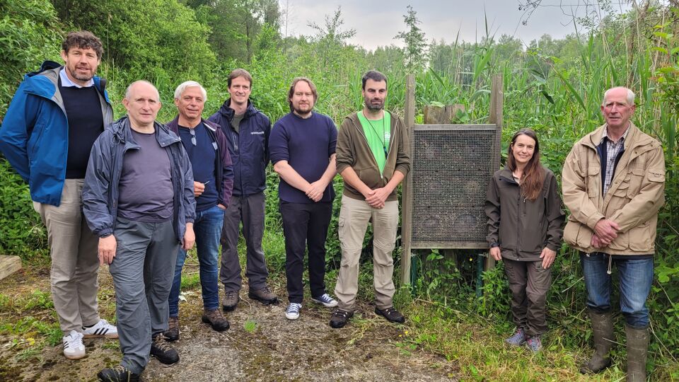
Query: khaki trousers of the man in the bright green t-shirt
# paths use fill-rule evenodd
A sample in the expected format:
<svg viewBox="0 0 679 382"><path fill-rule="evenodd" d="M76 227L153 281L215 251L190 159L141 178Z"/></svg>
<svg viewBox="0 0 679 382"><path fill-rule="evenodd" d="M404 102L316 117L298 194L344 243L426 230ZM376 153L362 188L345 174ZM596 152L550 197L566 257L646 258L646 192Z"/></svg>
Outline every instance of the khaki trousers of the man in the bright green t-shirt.
<svg viewBox="0 0 679 382"><path fill-rule="evenodd" d="M340 274L337 277L335 295L340 309L356 309L356 293L359 289L359 260L368 228L373 224L373 287L376 306L380 309L393 306L395 292L391 256L396 245L398 226L398 201L385 202L384 208L376 209L364 200L342 197L339 236L342 248Z"/></svg>

